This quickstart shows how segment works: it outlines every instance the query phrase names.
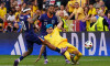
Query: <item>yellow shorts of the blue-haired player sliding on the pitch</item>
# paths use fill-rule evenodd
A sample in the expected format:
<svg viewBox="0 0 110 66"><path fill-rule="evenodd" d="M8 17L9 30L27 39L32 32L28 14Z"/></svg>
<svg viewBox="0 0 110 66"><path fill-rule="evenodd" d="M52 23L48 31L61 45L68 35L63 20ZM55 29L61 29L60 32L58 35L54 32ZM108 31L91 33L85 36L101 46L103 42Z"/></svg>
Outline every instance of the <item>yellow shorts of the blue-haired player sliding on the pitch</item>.
<svg viewBox="0 0 110 66"><path fill-rule="evenodd" d="M69 44L68 42L63 42L63 43L61 43L59 45L57 45L58 48L67 47L67 46L68 46L67 51L68 51L69 53L73 53L74 51L78 51L75 46L73 46L73 45Z"/></svg>

